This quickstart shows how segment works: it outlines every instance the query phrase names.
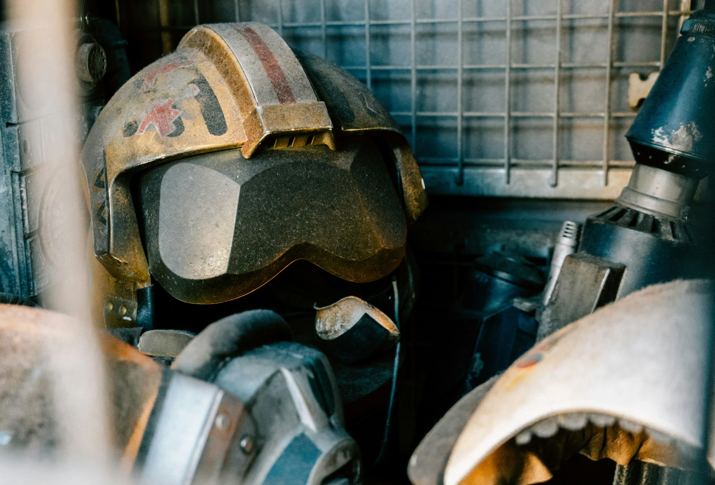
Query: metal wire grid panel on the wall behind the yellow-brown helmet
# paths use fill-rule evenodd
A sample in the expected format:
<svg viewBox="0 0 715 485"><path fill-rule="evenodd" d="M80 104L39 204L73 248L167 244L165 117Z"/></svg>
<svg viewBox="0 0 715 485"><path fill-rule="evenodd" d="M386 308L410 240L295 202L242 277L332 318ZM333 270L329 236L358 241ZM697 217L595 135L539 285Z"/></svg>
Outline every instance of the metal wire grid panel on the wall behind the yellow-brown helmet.
<svg viewBox="0 0 715 485"><path fill-rule="evenodd" d="M363 80L403 126L433 194L567 199L612 199L627 183L633 159L623 134L636 115L628 75L658 71L695 8L691 0L157 2L164 54L192 24L254 20Z"/></svg>

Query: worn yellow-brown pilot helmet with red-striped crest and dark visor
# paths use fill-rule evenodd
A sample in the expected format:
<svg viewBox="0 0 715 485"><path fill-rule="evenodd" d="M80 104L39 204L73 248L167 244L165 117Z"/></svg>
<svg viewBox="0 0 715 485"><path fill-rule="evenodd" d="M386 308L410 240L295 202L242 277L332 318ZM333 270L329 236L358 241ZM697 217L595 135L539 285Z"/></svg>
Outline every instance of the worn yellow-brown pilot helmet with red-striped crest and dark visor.
<svg viewBox="0 0 715 485"><path fill-rule="evenodd" d="M189 303L235 299L297 259L383 278L427 204L370 91L255 22L197 26L139 71L82 163L102 265L136 288L151 273Z"/></svg>

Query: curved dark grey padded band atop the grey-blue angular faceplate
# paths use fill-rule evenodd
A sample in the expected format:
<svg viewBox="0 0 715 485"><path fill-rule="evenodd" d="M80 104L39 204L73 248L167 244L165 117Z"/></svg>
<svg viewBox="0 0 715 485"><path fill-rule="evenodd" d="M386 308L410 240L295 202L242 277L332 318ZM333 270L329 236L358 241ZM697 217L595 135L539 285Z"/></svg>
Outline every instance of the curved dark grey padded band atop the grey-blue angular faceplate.
<svg viewBox="0 0 715 485"><path fill-rule="evenodd" d="M172 369L212 381L227 359L262 345L291 340L288 324L275 311L244 311L207 326L184 347Z"/></svg>

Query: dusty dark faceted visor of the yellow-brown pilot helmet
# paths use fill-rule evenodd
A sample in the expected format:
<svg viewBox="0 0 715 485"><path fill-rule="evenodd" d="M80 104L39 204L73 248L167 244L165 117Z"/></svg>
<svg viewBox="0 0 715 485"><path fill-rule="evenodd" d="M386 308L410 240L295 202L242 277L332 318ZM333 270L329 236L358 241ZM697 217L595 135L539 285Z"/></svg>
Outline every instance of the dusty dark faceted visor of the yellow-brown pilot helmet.
<svg viewBox="0 0 715 485"><path fill-rule="evenodd" d="M190 156L138 176L149 271L175 298L219 303L307 259L342 279L392 272L407 229L383 155L367 137Z"/></svg>

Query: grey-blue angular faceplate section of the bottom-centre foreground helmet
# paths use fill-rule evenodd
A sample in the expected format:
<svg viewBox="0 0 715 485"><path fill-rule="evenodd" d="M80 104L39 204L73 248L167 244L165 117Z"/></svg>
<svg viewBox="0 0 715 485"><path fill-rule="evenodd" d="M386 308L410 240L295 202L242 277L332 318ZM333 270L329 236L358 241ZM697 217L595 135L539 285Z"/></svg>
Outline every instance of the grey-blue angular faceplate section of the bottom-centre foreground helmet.
<svg viewBox="0 0 715 485"><path fill-rule="evenodd" d="M289 342L262 346L233 359L215 382L245 403L260 440L238 475L242 483L320 485L332 474L358 483L360 449L343 429L335 376L319 351Z"/></svg>

